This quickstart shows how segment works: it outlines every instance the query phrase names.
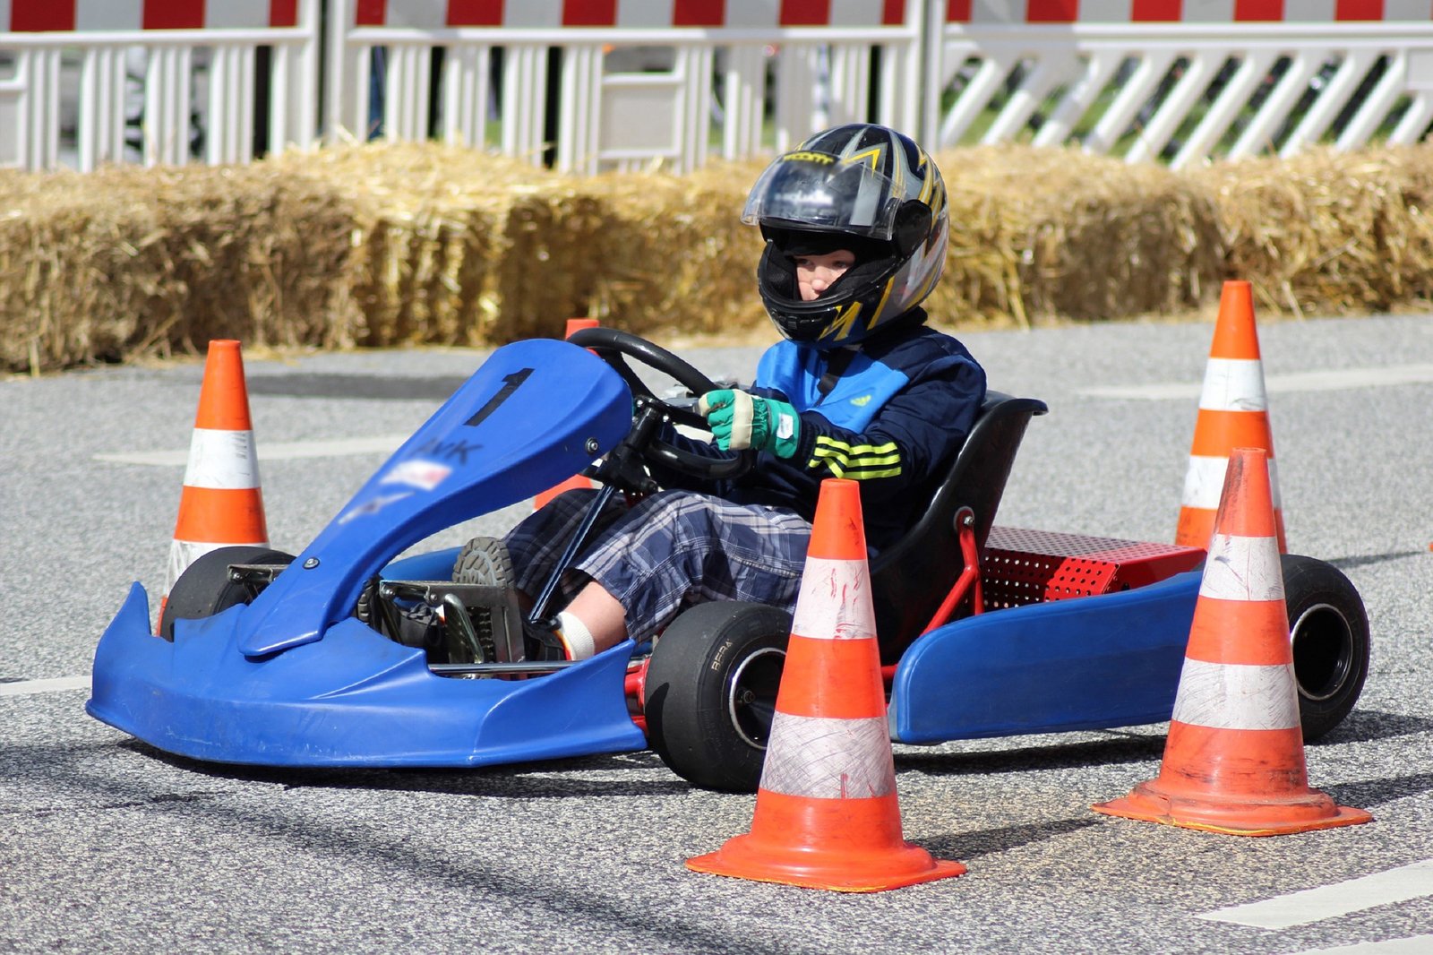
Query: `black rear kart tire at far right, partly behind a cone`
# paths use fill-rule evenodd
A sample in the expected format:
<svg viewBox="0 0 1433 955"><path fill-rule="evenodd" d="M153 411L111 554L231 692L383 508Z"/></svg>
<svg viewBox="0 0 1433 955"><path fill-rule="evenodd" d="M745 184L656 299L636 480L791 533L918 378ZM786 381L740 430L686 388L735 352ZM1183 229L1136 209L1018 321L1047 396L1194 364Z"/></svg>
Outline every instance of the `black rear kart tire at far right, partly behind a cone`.
<svg viewBox="0 0 1433 955"><path fill-rule="evenodd" d="M1298 717L1311 743L1343 723L1369 675L1369 617L1343 572L1297 553L1283 556L1284 602L1298 681Z"/></svg>

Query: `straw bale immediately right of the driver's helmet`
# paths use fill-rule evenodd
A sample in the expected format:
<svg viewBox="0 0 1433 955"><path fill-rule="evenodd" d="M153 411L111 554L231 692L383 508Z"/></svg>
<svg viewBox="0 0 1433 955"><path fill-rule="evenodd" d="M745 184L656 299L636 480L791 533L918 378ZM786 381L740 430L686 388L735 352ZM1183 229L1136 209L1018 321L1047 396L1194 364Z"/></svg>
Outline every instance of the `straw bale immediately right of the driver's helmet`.
<svg viewBox="0 0 1433 955"><path fill-rule="evenodd" d="M1182 176L1065 149L936 156L950 255L933 314L1126 318L1194 308L1222 271L1218 211Z"/></svg>

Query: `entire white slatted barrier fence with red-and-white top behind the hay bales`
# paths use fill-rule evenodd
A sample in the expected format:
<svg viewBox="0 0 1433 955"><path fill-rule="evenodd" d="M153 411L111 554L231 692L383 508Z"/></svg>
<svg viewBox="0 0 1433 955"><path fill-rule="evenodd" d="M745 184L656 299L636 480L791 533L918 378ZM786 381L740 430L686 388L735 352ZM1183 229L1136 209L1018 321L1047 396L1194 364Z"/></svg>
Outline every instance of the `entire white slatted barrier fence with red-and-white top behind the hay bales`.
<svg viewBox="0 0 1433 955"><path fill-rule="evenodd" d="M29 169L381 135L686 171L850 119L1175 166L1416 142L1433 0L0 0Z"/></svg>

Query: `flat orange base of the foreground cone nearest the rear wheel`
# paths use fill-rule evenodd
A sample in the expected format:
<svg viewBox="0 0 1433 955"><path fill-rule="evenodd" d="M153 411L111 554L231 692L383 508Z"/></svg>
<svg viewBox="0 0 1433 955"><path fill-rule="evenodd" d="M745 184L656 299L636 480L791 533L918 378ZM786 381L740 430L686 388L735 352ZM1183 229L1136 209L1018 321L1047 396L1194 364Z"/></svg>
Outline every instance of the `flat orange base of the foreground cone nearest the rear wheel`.
<svg viewBox="0 0 1433 955"><path fill-rule="evenodd" d="M1129 796L1098 803L1091 809L1106 816L1222 832L1231 836L1284 836L1373 820L1373 816L1361 809L1337 806L1317 789L1283 799L1251 802L1248 797L1171 793L1162 789L1158 780L1141 783Z"/></svg>

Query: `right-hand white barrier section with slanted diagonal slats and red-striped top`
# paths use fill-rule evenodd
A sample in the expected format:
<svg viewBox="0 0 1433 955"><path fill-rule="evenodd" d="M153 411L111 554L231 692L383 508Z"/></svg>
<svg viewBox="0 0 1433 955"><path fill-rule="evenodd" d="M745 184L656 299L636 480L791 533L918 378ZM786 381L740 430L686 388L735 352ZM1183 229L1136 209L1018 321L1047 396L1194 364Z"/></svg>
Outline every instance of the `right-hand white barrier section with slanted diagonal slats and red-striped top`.
<svg viewBox="0 0 1433 955"><path fill-rule="evenodd" d="M1433 122L1429 0L939 3L923 115L937 146L1029 138L1181 168L1351 149L1383 128L1412 143Z"/></svg>

